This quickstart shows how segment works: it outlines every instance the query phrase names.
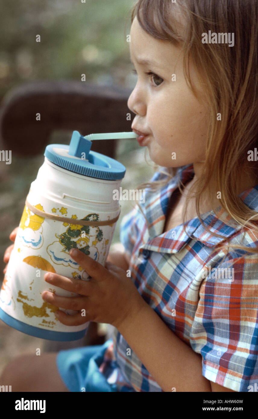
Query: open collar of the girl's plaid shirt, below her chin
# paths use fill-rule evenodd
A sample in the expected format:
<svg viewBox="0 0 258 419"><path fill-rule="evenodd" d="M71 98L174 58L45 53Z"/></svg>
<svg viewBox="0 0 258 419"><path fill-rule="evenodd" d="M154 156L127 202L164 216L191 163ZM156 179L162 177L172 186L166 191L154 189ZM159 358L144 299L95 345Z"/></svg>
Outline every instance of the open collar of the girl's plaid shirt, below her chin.
<svg viewBox="0 0 258 419"><path fill-rule="evenodd" d="M163 168L163 170L165 169L166 168ZM202 241L206 246L212 248L242 228L242 226L235 222L235 220L230 217L226 211L223 211L222 207L219 205L217 207L217 215L211 210L202 214L201 219L204 222L204 225L209 226L211 232L222 235L224 238L212 236L212 234L201 225L198 217L186 222L186 232L183 229L183 224L181 224L162 233L170 196L178 187L178 177L181 178L181 181L185 184L186 181L194 175L193 164L179 168L177 175L178 176L171 179L168 184L163 186L158 192L146 194L147 199L144 203L144 215L150 225L148 230L149 238L143 246L140 246L140 249L145 248L163 253L177 253L191 240L186 232L194 239ZM159 179L163 176L159 177ZM154 178L155 177L152 179ZM245 205L258 212L258 185L242 192L239 197Z"/></svg>

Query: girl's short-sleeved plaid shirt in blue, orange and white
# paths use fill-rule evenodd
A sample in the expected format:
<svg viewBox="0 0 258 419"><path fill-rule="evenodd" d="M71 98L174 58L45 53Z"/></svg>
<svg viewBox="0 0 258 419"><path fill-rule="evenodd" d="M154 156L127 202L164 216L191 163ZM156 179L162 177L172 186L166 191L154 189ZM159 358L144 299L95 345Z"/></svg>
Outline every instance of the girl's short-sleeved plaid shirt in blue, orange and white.
<svg viewBox="0 0 258 419"><path fill-rule="evenodd" d="M258 256L234 248L214 250L224 239L212 236L198 217L185 225L193 238L183 225L162 233L177 176L186 183L193 176L193 165L179 168L159 191L146 189L141 207L149 230L137 206L121 221L120 240L130 256L131 279L171 331L201 354L204 377L235 391L257 391ZM152 181L163 178L156 172ZM258 212L258 185L239 197ZM214 211L201 216L205 225L233 244L258 246L254 230L227 225L234 220L222 209L218 217ZM100 366L108 382L116 383L118 391L163 391L129 349L115 329Z"/></svg>

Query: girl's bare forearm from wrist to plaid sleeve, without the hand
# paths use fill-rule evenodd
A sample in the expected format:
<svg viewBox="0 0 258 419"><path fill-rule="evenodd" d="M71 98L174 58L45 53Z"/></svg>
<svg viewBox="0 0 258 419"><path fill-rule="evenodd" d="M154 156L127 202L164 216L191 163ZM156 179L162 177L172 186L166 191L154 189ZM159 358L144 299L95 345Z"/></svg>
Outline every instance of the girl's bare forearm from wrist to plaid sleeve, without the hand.
<svg viewBox="0 0 258 419"><path fill-rule="evenodd" d="M118 330L163 391L212 391L211 382L202 375L201 355L181 341L147 303L125 318Z"/></svg>

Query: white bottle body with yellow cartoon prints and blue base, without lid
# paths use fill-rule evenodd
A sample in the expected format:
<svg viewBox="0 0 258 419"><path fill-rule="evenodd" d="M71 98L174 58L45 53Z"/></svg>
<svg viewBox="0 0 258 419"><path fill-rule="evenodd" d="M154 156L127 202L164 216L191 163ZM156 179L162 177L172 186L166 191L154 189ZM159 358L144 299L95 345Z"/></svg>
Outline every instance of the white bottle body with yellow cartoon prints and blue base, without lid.
<svg viewBox="0 0 258 419"><path fill-rule="evenodd" d="M64 325L54 314L58 308L41 297L45 290L66 297L77 294L48 284L44 275L56 272L75 280L87 280L88 273L69 254L73 247L105 264L116 222L92 226L81 225L80 220L98 222L117 217L120 204L113 199L113 191L119 190L120 184L121 179L108 181L83 176L45 158L27 200L39 211L64 220L36 215L25 205L0 292L3 321L4 312L18 321L13 327L44 339L74 340L85 334L89 322ZM66 218L74 222L66 222ZM70 315L77 313L59 309ZM9 317L8 321L12 326Z"/></svg>

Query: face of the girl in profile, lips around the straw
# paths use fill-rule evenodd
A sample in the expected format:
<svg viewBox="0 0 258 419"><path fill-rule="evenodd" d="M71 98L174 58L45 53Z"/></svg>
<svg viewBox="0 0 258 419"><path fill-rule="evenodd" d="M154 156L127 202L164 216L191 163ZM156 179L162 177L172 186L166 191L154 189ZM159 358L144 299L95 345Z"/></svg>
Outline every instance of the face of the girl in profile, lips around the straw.
<svg viewBox="0 0 258 419"><path fill-rule="evenodd" d="M137 17L130 35L131 59L138 75L128 99L129 109L136 114L132 129L150 134L144 145L157 165L179 167L195 163L196 172L204 162L208 109L186 84L183 54L170 42L147 34ZM149 60L150 64L140 60ZM203 85L191 67L190 75L197 91L201 91ZM173 77L176 81L172 81Z"/></svg>

